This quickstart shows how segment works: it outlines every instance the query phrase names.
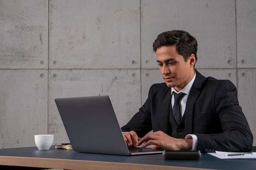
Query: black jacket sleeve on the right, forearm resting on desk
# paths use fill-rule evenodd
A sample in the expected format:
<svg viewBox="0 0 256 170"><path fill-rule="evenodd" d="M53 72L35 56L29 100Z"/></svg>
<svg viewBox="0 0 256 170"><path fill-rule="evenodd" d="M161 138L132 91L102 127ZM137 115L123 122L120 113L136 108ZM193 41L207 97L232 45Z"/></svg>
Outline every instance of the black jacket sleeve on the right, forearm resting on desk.
<svg viewBox="0 0 256 170"><path fill-rule="evenodd" d="M218 134L195 134L202 152L249 152L253 135L238 104L237 90L229 80L222 81L216 91L215 109L222 128ZM214 128L214 127L212 127Z"/></svg>

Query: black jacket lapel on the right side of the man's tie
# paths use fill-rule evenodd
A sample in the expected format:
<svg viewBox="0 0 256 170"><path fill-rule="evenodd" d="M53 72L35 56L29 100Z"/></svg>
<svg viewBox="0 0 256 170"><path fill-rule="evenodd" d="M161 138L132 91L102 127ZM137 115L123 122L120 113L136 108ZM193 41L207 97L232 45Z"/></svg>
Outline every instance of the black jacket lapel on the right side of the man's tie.
<svg viewBox="0 0 256 170"><path fill-rule="evenodd" d="M185 115L185 134L193 133L193 118L194 118L194 105L195 101L200 95L200 89L202 87L202 79L203 76L198 72L196 72L195 81L191 87L189 97L186 102L186 110L184 112Z"/></svg>

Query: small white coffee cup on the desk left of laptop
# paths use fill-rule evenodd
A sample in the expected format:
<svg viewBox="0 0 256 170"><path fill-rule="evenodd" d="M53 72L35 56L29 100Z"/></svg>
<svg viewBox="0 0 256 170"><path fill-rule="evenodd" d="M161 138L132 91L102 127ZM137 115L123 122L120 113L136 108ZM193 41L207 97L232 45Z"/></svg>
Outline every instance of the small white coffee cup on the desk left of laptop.
<svg viewBox="0 0 256 170"><path fill-rule="evenodd" d="M53 144L54 135L35 135L35 143L39 150L48 150Z"/></svg>

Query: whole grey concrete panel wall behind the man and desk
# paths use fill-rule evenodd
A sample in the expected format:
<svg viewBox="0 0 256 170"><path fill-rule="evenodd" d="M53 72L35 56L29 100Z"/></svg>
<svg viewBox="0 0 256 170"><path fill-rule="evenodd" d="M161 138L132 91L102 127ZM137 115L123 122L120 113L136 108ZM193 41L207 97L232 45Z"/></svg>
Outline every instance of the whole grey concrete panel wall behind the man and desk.
<svg viewBox="0 0 256 170"><path fill-rule="evenodd" d="M197 38L198 71L236 85L255 137L255 0L0 0L0 148L68 142L57 97L110 95L126 124L163 82L152 43L173 29Z"/></svg>

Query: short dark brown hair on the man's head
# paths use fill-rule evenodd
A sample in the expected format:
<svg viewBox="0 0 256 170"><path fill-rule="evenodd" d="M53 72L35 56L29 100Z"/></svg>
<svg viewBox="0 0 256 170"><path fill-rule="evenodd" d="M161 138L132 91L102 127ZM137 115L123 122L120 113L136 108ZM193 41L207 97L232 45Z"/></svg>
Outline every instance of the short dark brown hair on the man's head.
<svg viewBox="0 0 256 170"><path fill-rule="evenodd" d="M186 31L173 30L160 33L153 42L153 51L156 52L161 46L173 45L176 45L177 53L183 56L185 62L191 54L194 54L195 61L197 60L198 42Z"/></svg>

